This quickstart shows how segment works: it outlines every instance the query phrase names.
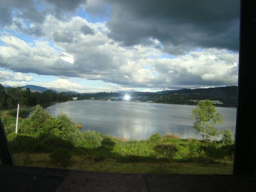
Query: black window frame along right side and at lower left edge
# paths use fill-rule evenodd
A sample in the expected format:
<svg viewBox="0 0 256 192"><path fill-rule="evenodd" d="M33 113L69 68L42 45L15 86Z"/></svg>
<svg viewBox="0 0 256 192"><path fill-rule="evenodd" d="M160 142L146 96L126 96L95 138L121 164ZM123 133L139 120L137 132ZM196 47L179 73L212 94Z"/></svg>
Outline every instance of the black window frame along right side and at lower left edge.
<svg viewBox="0 0 256 192"><path fill-rule="evenodd" d="M256 173L256 1L240 1L240 48L238 69L238 106L233 174ZM0 120L0 159L14 165L6 134Z"/></svg>

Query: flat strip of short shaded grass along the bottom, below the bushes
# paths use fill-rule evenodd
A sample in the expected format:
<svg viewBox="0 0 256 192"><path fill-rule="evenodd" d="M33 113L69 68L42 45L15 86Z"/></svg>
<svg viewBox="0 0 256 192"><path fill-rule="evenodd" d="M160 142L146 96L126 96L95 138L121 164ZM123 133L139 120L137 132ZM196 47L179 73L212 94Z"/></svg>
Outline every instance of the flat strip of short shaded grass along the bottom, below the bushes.
<svg viewBox="0 0 256 192"><path fill-rule="evenodd" d="M13 154L16 165L24 165L25 153ZM52 167L49 154L31 153L28 166ZM217 164L203 164L198 162L170 162L166 168L160 163L118 163L115 159L108 158L96 162L94 158L86 155L74 155L71 165L67 169L88 171L119 172L119 173L153 173L153 174L232 174L232 162L226 160Z"/></svg>

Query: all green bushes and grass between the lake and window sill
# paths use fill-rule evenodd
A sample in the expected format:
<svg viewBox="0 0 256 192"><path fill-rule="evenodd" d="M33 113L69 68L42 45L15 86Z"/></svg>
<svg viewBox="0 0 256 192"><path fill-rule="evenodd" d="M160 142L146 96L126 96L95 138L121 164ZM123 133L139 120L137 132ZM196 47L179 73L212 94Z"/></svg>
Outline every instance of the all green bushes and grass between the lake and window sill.
<svg viewBox="0 0 256 192"><path fill-rule="evenodd" d="M65 114L53 118L36 106L29 118L19 118L15 134L15 117L8 111L0 116L19 165L106 172L232 173L234 144L229 132L222 141L180 139L174 134L126 140L96 131L80 132Z"/></svg>

